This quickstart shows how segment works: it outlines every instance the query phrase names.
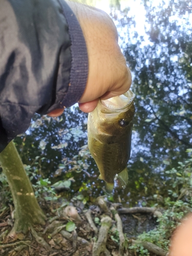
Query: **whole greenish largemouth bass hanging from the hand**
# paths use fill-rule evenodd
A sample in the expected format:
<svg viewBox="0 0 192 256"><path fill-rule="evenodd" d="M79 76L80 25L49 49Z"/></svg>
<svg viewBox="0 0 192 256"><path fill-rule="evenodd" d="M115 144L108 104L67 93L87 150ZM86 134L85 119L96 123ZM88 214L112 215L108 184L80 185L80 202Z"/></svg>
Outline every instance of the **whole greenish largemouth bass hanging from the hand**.
<svg viewBox="0 0 192 256"><path fill-rule="evenodd" d="M128 181L127 162L131 153L134 93L107 100L99 100L97 108L88 116L88 146L99 168L99 179L106 182L111 193L118 174L122 187Z"/></svg>

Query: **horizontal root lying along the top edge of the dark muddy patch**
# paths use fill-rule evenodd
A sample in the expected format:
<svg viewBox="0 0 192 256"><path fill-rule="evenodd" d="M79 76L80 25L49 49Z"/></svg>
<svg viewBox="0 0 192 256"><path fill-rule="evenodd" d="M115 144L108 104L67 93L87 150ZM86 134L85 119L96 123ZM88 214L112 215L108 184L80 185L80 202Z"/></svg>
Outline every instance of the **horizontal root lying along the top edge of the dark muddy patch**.
<svg viewBox="0 0 192 256"><path fill-rule="evenodd" d="M152 213L155 217L161 217L162 213L156 210L155 207L132 207L132 208L120 208L117 210L119 214L146 214Z"/></svg>

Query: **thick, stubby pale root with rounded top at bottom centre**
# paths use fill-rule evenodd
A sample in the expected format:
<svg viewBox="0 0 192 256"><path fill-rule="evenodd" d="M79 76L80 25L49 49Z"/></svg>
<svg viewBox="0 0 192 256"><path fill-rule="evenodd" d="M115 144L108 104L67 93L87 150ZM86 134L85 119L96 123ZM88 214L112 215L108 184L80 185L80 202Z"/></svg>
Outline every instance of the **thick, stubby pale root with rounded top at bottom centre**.
<svg viewBox="0 0 192 256"><path fill-rule="evenodd" d="M111 255L111 253L106 249L106 240L108 238L108 231L111 227L112 219L109 216L105 216L101 219L101 227L99 229L99 236L96 243L93 245L93 256L100 256L101 252L105 255Z"/></svg>

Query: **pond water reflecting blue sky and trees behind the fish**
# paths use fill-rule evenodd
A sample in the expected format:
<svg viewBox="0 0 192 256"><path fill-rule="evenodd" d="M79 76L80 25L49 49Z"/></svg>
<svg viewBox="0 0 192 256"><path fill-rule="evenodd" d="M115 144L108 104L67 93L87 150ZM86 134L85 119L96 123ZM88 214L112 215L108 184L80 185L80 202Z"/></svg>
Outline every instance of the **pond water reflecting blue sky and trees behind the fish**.
<svg viewBox="0 0 192 256"><path fill-rule="evenodd" d="M172 177L165 171L187 158L192 148L191 1L87 1L108 12L133 75L136 116L129 184L118 180L109 200L151 206L166 197ZM71 179L63 196L82 194L94 202L104 182L85 147L87 114L74 107L60 118L36 115L29 131L15 139L26 165L39 177ZM73 177L73 179L72 179Z"/></svg>

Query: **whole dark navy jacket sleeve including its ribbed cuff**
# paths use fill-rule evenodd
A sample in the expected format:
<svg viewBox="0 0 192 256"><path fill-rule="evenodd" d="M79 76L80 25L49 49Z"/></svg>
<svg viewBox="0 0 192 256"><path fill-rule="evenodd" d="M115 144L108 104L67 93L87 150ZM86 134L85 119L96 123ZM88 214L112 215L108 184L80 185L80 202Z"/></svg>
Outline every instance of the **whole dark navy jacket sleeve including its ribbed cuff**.
<svg viewBox="0 0 192 256"><path fill-rule="evenodd" d="M64 0L0 1L0 152L34 113L67 108L83 94L88 54Z"/></svg>

